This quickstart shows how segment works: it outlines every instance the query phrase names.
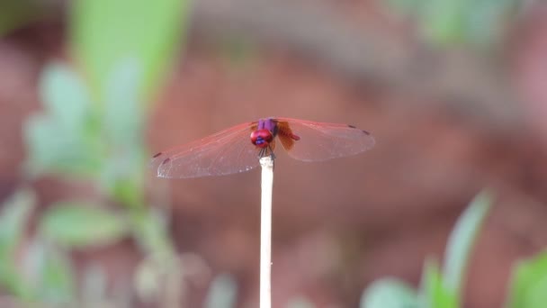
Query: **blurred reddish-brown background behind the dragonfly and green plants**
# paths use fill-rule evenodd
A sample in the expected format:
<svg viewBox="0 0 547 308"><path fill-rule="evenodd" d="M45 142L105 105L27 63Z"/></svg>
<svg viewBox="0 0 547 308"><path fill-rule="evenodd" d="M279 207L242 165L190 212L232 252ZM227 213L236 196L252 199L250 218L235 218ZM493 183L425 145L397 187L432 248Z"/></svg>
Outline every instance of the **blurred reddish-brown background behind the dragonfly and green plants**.
<svg viewBox="0 0 547 308"><path fill-rule="evenodd" d="M21 181L22 120L40 108L40 68L70 58L65 5L46 11L0 41L2 199ZM530 2L512 21L485 51L427 44L412 20L368 0L197 1L186 49L150 114L150 149L270 115L372 131L376 146L363 155L318 164L278 155L273 306L301 295L355 307L383 276L416 285L473 195L491 187L498 199L471 255L464 307L499 307L516 260L547 245L547 6ZM149 186L172 188L176 248L199 260L190 306L225 272L237 279L238 306L256 307L258 171L153 177ZM40 204L87 189L33 185ZM138 259L130 240L75 258L117 276Z"/></svg>

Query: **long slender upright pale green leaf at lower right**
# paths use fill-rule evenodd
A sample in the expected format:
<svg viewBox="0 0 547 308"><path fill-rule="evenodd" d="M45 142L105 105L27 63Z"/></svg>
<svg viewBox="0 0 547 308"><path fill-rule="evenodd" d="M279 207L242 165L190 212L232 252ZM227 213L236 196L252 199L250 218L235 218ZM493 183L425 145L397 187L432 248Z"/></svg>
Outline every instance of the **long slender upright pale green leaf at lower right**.
<svg viewBox="0 0 547 308"><path fill-rule="evenodd" d="M460 296L471 251L492 204L492 195L483 191L477 195L462 213L450 234L444 253L444 283Z"/></svg>

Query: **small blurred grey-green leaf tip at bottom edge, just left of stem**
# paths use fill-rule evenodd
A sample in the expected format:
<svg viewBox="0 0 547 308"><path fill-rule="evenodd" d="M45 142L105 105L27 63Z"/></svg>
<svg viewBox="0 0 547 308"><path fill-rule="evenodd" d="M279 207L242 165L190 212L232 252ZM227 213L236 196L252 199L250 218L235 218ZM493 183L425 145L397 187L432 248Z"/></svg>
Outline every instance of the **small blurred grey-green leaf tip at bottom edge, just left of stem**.
<svg viewBox="0 0 547 308"><path fill-rule="evenodd" d="M206 308L231 308L236 306L238 285L232 276L216 276L205 298Z"/></svg>

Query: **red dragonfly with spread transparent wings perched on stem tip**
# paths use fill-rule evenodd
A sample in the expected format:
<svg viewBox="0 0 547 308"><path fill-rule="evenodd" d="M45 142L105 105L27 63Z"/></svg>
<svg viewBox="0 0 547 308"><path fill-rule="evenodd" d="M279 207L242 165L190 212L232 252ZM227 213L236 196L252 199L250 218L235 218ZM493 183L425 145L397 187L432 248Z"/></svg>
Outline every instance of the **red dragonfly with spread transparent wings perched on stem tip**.
<svg viewBox="0 0 547 308"><path fill-rule="evenodd" d="M159 152L150 165L157 170L157 177L170 178L245 172L256 168L261 157L273 157L276 140L293 159L303 161L355 155L374 145L368 131L352 125L272 117L242 123Z"/></svg>

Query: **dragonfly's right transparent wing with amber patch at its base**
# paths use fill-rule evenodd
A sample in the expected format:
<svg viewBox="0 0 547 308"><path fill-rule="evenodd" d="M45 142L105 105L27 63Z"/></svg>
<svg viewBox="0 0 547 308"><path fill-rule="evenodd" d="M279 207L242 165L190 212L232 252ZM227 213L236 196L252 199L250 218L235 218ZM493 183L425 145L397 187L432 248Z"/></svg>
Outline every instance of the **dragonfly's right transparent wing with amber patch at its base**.
<svg viewBox="0 0 547 308"><path fill-rule="evenodd" d="M368 131L351 125L290 118L276 120L281 126L287 125L290 128L289 134L300 137L300 140L294 142L282 142L293 159L303 161L336 159L361 153L374 146L374 138ZM288 137L279 134L279 138L283 141Z"/></svg>

